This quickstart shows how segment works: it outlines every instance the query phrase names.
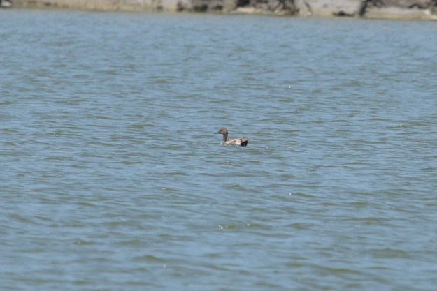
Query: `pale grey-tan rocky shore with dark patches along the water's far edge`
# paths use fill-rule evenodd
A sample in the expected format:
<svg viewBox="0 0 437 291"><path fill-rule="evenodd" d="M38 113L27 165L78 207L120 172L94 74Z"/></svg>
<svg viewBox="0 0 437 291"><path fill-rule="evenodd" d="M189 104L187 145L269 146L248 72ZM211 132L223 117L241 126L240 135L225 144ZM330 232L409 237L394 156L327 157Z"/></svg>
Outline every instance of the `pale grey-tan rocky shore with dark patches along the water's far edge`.
<svg viewBox="0 0 437 291"><path fill-rule="evenodd" d="M0 0L0 4L29 8L437 20L437 0Z"/></svg>

